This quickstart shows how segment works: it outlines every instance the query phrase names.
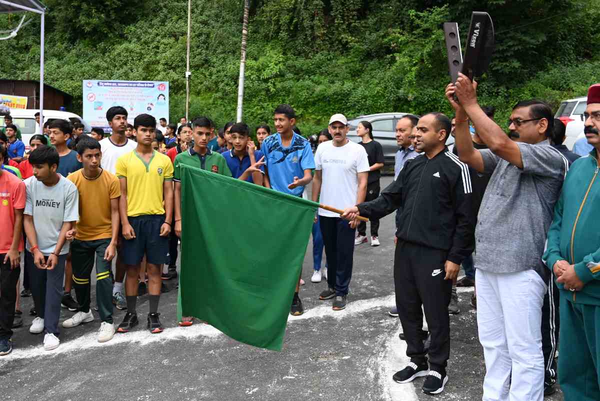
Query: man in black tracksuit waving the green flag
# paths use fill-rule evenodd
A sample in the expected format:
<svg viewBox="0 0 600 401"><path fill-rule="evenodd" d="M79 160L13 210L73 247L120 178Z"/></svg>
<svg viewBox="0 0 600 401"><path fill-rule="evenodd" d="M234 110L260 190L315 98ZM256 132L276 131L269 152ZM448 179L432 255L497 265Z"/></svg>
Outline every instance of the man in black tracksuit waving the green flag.
<svg viewBox="0 0 600 401"><path fill-rule="evenodd" d="M422 390L428 394L441 393L448 381L452 280L474 248L470 170L445 146L450 129L448 117L441 113L422 116L416 140L423 153L407 161L377 199L343 214L349 220L356 214L380 218L401 208L394 286L410 364L394 380L406 383L427 376ZM421 337L421 305L431 333L429 366Z"/></svg>

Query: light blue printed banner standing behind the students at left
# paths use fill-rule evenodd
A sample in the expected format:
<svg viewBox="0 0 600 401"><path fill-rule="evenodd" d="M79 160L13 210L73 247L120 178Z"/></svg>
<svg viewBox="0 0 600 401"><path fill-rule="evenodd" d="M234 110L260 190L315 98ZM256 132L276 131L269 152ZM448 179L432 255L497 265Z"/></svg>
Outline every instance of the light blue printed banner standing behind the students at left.
<svg viewBox="0 0 600 401"><path fill-rule="evenodd" d="M146 113L169 122L169 82L166 81L83 81L83 119L92 127L110 132L106 110L122 106L127 110L127 122L133 124L137 115Z"/></svg>

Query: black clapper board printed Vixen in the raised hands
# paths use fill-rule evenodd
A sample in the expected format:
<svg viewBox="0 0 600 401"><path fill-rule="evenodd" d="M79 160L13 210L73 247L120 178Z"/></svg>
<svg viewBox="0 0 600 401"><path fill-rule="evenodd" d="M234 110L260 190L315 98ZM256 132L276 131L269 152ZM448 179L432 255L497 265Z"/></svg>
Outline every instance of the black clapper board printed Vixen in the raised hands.
<svg viewBox="0 0 600 401"><path fill-rule="evenodd" d="M481 77L490 66L495 45L490 14L473 11L460 72L470 79Z"/></svg>

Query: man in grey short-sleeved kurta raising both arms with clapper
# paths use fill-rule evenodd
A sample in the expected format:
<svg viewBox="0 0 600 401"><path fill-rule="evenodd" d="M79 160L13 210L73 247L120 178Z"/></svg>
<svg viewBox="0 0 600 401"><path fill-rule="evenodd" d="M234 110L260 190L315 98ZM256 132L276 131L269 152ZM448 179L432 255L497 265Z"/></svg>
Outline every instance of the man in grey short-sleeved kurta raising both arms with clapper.
<svg viewBox="0 0 600 401"><path fill-rule="evenodd" d="M487 370L483 400L541 401L542 304L549 279L542 254L568 170L548 141L554 116L542 101L521 101L512 110L509 137L481 110L466 76L448 85L446 97L457 112L460 159L492 174L475 229L477 323ZM489 149L473 148L467 118Z"/></svg>

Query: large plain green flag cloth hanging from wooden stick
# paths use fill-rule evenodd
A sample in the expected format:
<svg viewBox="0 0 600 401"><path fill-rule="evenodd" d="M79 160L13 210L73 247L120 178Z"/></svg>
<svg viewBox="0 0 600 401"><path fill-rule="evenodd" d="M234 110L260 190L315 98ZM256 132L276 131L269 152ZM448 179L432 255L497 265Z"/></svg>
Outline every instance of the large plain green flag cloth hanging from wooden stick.
<svg viewBox="0 0 600 401"><path fill-rule="evenodd" d="M318 204L181 165L179 317L281 351Z"/></svg>

